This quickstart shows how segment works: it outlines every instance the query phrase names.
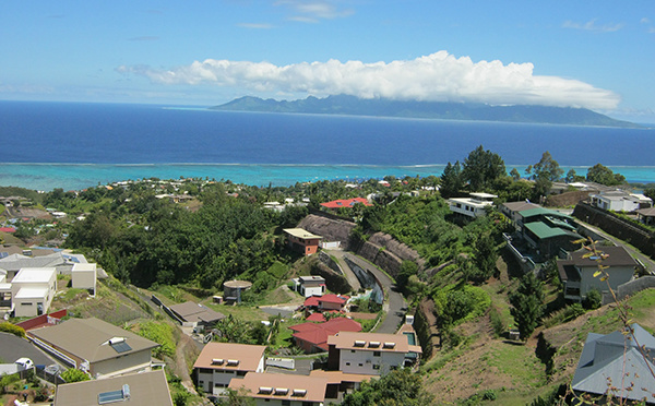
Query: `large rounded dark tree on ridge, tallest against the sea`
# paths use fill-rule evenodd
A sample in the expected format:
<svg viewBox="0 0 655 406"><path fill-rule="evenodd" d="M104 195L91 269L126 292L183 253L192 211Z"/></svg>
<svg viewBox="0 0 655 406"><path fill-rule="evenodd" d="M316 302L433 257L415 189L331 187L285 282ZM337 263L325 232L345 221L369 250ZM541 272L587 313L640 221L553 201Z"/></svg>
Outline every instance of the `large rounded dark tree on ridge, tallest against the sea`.
<svg viewBox="0 0 655 406"><path fill-rule="evenodd" d="M462 177L468 181L472 191L489 188L499 177L507 176L504 162L500 155L478 146L464 159Z"/></svg>

